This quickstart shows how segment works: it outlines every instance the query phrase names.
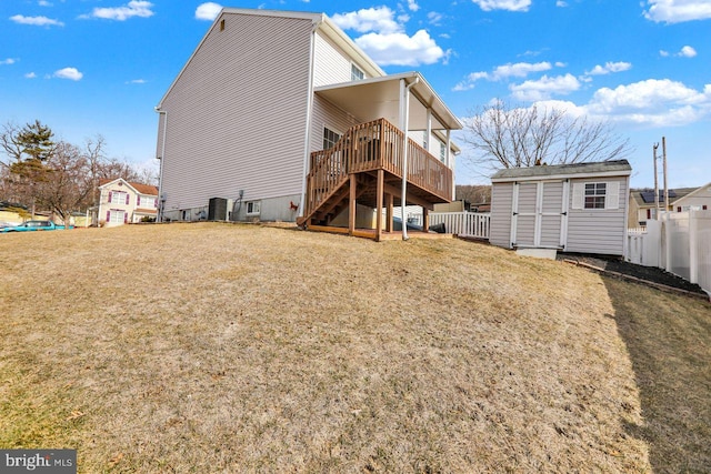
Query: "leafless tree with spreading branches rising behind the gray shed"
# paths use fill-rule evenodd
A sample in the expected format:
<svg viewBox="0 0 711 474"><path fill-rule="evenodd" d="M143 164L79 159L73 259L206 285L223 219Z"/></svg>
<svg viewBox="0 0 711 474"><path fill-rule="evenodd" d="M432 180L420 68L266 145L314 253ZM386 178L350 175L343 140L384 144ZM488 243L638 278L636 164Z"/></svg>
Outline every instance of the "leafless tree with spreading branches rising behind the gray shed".
<svg viewBox="0 0 711 474"><path fill-rule="evenodd" d="M629 140L608 122L572 117L562 109L511 108L501 100L481 108L464 125L471 164L485 172L502 168L621 159Z"/></svg>

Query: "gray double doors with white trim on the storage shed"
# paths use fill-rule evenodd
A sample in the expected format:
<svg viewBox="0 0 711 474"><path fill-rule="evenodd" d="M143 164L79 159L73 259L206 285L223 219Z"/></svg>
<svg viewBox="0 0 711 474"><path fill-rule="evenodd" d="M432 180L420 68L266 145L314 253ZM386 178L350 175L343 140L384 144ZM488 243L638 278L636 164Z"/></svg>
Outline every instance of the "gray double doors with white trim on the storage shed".
<svg viewBox="0 0 711 474"><path fill-rule="evenodd" d="M513 193L512 246L563 248L568 216L568 182L517 183Z"/></svg>

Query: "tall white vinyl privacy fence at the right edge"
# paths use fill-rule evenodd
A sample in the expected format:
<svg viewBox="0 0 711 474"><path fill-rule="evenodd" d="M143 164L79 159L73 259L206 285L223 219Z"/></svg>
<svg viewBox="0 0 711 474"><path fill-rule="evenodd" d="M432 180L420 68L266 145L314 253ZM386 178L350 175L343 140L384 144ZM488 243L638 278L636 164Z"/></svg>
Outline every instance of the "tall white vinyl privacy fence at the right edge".
<svg viewBox="0 0 711 474"><path fill-rule="evenodd" d="M628 231L625 260L659 266L711 294L711 211L664 212L647 231Z"/></svg>

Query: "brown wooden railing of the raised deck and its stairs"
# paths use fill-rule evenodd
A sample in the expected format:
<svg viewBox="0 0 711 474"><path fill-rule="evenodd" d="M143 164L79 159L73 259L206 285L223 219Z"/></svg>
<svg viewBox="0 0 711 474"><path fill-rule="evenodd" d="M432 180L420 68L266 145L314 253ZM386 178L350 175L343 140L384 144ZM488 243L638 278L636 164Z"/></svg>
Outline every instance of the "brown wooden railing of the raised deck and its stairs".
<svg viewBox="0 0 711 474"><path fill-rule="evenodd" d="M304 215L312 214L350 173L383 169L402 178L404 133L385 119L351 127L330 149L311 153ZM452 170L408 140L408 182L449 201Z"/></svg>

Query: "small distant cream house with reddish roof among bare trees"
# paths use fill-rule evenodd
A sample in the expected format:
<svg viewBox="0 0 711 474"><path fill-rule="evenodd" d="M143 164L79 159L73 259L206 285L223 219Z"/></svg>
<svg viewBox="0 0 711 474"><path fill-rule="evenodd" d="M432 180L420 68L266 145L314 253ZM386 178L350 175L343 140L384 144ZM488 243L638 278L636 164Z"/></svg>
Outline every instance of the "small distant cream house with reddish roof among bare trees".
<svg viewBox="0 0 711 474"><path fill-rule="evenodd" d="M99 220L106 226L141 222L158 214L158 188L126 181L100 180Z"/></svg>

